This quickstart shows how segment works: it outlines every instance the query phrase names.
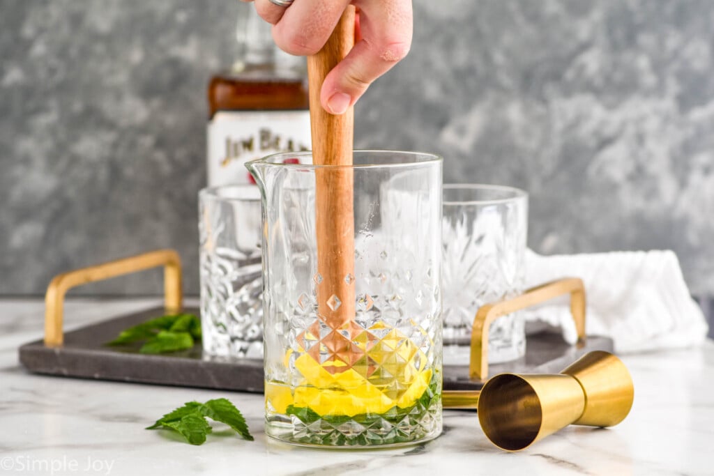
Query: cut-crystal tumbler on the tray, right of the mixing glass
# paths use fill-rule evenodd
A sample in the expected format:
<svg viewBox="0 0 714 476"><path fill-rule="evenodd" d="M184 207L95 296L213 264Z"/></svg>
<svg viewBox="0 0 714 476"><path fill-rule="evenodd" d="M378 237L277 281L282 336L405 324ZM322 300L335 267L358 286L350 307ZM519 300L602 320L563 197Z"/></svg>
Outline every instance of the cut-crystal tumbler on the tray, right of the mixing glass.
<svg viewBox="0 0 714 476"><path fill-rule="evenodd" d="M481 305L523 292L528 196L518 188L443 186L444 348L447 365L466 365ZM489 363L526 353L521 313L498 318L488 333Z"/></svg>

